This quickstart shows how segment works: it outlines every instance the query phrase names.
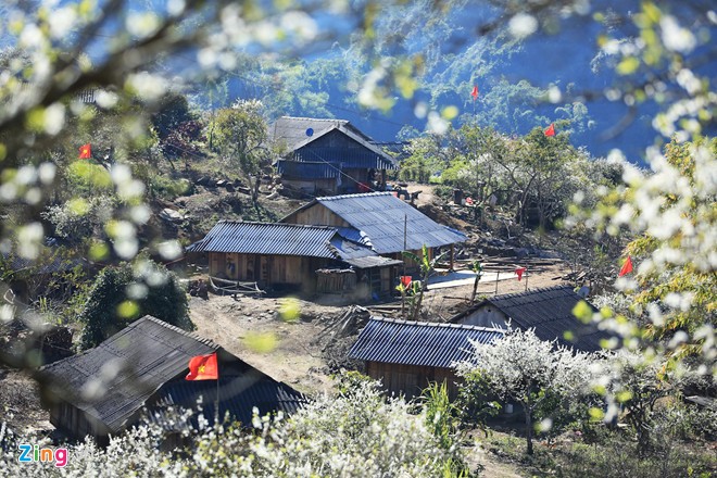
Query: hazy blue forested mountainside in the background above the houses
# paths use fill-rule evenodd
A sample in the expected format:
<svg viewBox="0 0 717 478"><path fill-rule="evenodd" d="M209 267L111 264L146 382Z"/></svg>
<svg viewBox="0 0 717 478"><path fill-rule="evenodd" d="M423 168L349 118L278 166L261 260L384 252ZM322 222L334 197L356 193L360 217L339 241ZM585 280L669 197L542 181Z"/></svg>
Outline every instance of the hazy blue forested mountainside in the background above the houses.
<svg viewBox="0 0 717 478"><path fill-rule="evenodd" d="M393 96L379 111L362 106L362 85L372 81L366 75L375 65L361 43L349 37L292 61L242 56L235 68L217 75L210 92L206 84L196 86L194 100L223 106L237 98L253 98L262 100L273 116L347 118L377 141L415 136L430 127L426 121L430 111L445 112L446 108L454 127L477 122L510 135L567 120L575 146L587 147L594 156L618 148L634 163L643 162L646 146L664 141L652 124L659 109L654 98L642 101L640 93L612 95L612 88L624 85L628 76L639 86L669 75L661 65L615 73L619 58L612 52L617 42L607 45L607 36L637 35L629 18L639 2L598 2L591 15L539 18L548 22L546 27L525 38L520 38L520 25L496 16L488 4L458 5L442 17L428 3L394 5L393 14L377 22L378 51L373 53L388 63L408 54L412 61L402 67L415 74L411 81L397 85L408 98ZM671 13L681 20L693 14L690 9ZM693 25L697 32L714 29L714 24L699 20ZM534 25L528 22L526 27ZM476 35L477 28L486 32ZM403 38L397 40L397 36ZM600 43L607 47L601 49ZM717 75L709 52L706 62L704 51L690 53L685 61L702 64L697 72ZM479 89L475 101L474 86Z"/></svg>

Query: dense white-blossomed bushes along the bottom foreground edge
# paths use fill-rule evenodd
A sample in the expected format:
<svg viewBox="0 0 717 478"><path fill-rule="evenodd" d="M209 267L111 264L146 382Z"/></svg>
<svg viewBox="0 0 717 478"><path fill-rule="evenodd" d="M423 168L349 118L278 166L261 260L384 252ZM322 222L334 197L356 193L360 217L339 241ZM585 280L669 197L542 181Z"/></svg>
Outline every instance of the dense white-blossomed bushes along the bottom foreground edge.
<svg viewBox="0 0 717 478"><path fill-rule="evenodd" d="M426 427L425 412L412 414L403 399L387 400L368 381L322 397L290 418L255 414L253 432L204 422L185 433L193 445L175 453L162 451L167 420L113 438L106 449L91 441L70 446L64 468L18 463L16 449L0 433L0 476L432 478L443 476L449 460Z"/></svg>

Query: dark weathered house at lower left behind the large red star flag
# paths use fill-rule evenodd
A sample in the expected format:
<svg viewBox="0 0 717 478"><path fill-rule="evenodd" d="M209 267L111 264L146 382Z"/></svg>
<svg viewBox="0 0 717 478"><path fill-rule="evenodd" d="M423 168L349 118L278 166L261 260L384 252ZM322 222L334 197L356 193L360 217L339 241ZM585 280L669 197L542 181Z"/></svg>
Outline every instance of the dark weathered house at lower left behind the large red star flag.
<svg viewBox="0 0 717 478"><path fill-rule="evenodd" d="M213 352L218 382L186 380L189 360ZM95 349L42 367L39 376L48 386L50 423L74 439L90 436L101 443L136 424L144 407L155 418L167 406L196 408L201 399L212 420L218 393L222 418L228 413L251 424L253 407L261 414L293 413L305 401L212 341L149 315Z"/></svg>

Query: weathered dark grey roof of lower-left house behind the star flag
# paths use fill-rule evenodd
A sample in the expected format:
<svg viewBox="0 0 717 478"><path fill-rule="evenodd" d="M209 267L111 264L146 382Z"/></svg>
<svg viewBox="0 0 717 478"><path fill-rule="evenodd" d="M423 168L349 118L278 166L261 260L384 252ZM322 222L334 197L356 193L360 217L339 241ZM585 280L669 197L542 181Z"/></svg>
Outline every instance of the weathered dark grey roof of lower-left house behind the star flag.
<svg viewBox="0 0 717 478"><path fill-rule="evenodd" d="M219 374L228 386L226 394L221 391L222 406L230 410L232 415L251 414L253 404L289 411L290 406L285 402L293 398L295 405L303 400L299 392L212 341L151 316L130 324L95 349L47 365L40 374L49 380L58 398L83 410L104 424L110 432L116 433L134 422L139 410L153 395L152 403L178 401L196 404L204 394L207 382L184 380L189 358L214 351L219 354ZM225 367L224 364L228 365ZM250 380L252 392L235 397L238 391L235 380L241 377L246 378L244 382ZM165 388L167 382L172 385ZM216 385L211 381L214 390ZM174 395L167 395L166 390Z"/></svg>

